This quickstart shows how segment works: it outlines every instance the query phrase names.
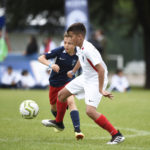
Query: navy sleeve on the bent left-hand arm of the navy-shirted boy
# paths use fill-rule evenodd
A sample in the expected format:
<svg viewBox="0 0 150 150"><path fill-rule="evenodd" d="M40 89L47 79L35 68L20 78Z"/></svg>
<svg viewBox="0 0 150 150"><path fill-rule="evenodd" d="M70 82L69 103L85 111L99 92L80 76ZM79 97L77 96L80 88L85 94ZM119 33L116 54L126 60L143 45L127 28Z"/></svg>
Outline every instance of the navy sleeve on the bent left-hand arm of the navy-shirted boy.
<svg viewBox="0 0 150 150"><path fill-rule="evenodd" d="M58 47L54 50L51 50L50 53L46 53L45 54L45 58L46 59L52 59L52 58L56 58L57 56L60 55L60 53L64 50L64 47Z"/></svg>

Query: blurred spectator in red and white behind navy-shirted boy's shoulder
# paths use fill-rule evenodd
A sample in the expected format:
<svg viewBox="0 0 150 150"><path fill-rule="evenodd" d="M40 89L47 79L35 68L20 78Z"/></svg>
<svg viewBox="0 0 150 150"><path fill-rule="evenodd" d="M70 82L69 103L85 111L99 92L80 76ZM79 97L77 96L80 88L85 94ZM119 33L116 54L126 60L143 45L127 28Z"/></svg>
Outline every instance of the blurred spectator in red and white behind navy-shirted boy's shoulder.
<svg viewBox="0 0 150 150"><path fill-rule="evenodd" d="M50 36L47 36L40 47L40 54L50 52L52 49L55 48L56 48L55 42L51 39Z"/></svg>

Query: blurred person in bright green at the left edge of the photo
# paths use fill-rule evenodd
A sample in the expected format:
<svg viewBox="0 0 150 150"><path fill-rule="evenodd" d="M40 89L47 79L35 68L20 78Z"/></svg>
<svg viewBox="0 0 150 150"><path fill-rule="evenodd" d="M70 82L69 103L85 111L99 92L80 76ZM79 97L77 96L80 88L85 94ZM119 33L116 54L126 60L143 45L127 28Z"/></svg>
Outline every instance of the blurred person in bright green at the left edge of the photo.
<svg viewBox="0 0 150 150"><path fill-rule="evenodd" d="M8 34L0 29L0 62L5 59L8 51L11 51Z"/></svg>

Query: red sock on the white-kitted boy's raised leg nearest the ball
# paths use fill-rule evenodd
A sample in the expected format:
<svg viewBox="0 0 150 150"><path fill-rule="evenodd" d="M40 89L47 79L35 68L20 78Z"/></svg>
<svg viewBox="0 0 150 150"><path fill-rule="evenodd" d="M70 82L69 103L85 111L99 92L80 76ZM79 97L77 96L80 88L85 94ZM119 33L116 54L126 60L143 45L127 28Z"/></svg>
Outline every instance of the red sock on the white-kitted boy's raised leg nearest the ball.
<svg viewBox="0 0 150 150"><path fill-rule="evenodd" d="M60 102L57 99L57 116L56 116L56 122L63 122L63 118L66 112L67 108L67 102Z"/></svg>

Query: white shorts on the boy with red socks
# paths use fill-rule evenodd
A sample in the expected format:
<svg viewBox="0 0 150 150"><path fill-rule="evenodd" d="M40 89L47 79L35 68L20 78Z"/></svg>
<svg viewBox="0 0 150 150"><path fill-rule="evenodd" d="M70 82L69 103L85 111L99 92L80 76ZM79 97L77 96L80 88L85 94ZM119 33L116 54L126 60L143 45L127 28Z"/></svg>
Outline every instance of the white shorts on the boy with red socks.
<svg viewBox="0 0 150 150"><path fill-rule="evenodd" d="M104 80L104 87L106 88L108 80ZM67 90L74 94L78 99L85 99L85 103L90 106L98 107L102 94L99 92L98 82L84 81L83 75L76 77L66 86Z"/></svg>

